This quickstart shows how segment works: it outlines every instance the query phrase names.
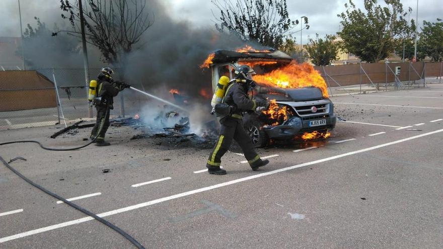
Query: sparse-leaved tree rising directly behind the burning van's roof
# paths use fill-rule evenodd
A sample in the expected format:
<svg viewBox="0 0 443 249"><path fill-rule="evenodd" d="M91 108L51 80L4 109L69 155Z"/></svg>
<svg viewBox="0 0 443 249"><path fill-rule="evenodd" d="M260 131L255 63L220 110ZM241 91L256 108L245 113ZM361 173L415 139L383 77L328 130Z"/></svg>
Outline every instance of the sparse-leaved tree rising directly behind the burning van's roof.
<svg viewBox="0 0 443 249"><path fill-rule="evenodd" d="M298 20L292 21L287 12L286 0L212 0L220 12L216 17L218 31L228 30L245 42L257 41L263 46L280 47L284 38L299 32ZM305 27L309 29L308 18L304 17Z"/></svg>

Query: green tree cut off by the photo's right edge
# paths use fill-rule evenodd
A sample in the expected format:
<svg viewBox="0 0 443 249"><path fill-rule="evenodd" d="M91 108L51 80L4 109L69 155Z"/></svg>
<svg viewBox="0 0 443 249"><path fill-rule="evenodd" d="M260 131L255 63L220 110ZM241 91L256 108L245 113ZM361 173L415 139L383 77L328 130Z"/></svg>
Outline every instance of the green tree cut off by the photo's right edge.
<svg viewBox="0 0 443 249"><path fill-rule="evenodd" d="M437 19L435 23L423 21L417 46L433 61L443 61L443 22L441 19Z"/></svg>

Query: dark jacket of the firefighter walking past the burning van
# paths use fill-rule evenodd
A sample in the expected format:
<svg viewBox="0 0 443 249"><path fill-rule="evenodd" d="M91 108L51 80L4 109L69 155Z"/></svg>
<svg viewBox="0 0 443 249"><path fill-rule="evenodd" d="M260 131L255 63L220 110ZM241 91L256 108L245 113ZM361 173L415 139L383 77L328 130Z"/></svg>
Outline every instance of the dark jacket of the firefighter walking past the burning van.
<svg viewBox="0 0 443 249"><path fill-rule="evenodd" d="M224 103L233 106L234 111L231 114L233 118L242 118L242 114L246 111L255 110L257 103L248 96L248 89L243 84L233 82L228 87Z"/></svg>

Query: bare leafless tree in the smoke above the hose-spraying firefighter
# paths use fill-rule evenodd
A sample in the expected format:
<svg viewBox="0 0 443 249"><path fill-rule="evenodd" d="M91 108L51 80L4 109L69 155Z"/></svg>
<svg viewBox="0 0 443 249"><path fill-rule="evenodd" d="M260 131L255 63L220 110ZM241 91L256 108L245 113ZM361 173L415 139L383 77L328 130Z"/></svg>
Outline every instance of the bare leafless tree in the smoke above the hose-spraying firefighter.
<svg viewBox="0 0 443 249"><path fill-rule="evenodd" d="M83 6L86 39L102 52L104 62L121 66L124 55L134 49L141 35L153 25L154 18L145 12L145 7L146 1L142 0L86 1ZM60 0L60 8L67 13L61 17L68 19L72 26L72 30L64 32L80 37L78 2Z"/></svg>

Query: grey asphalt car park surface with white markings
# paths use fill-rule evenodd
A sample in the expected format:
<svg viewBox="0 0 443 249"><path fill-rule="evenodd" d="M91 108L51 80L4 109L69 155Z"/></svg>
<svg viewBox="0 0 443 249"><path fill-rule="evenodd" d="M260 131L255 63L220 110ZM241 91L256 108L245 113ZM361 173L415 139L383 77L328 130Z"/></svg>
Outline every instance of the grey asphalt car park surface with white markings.
<svg viewBox="0 0 443 249"><path fill-rule="evenodd" d="M107 148L14 144L0 155L27 158L11 165L65 198L91 195L73 202L146 248L441 248L443 85L331 99L346 121L330 139L260 149L271 163L257 172L229 152L228 175L208 175L209 150L129 140L127 127L110 130ZM69 147L87 134L53 132L0 131L0 141ZM0 189L0 248L132 248L3 166Z"/></svg>

